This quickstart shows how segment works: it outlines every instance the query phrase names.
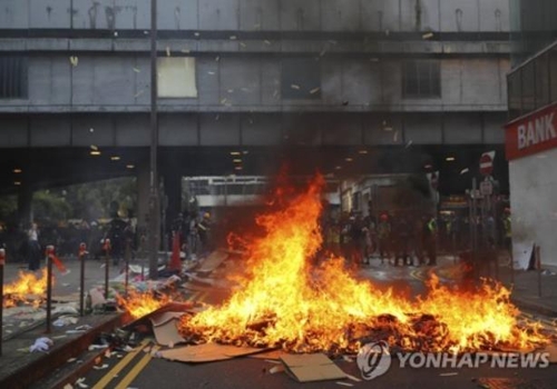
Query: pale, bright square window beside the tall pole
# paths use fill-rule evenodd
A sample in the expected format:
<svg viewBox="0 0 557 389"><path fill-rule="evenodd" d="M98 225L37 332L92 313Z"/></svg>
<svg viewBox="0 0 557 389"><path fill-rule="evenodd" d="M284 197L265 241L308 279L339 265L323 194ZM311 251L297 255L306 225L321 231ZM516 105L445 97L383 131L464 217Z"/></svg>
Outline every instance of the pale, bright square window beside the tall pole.
<svg viewBox="0 0 557 389"><path fill-rule="evenodd" d="M158 58L157 94L159 98L196 98L195 58Z"/></svg>

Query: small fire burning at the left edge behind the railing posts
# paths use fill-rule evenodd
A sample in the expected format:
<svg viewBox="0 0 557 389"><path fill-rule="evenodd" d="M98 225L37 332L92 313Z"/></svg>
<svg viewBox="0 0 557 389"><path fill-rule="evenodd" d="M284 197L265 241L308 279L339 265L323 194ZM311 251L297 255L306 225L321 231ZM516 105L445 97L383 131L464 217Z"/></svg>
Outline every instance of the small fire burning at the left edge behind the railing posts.
<svg viewBox="0 0 557 389"><path fill-rule="evenodd" d="M33 272L20 271L19 278L3 287L3 307L32 305L38 307L47 292L47 270L40 276Z"/></svg>

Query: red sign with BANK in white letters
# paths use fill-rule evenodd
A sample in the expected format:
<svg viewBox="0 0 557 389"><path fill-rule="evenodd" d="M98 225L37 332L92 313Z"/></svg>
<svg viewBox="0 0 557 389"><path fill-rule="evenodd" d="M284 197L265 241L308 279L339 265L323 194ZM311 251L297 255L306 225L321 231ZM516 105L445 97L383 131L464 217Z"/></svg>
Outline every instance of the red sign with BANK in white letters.
<svg viewBox="0 0 557 389"><path fill-rule="evenodd" d="M557 148L557 103L507 124L507 159Z"/></svg>

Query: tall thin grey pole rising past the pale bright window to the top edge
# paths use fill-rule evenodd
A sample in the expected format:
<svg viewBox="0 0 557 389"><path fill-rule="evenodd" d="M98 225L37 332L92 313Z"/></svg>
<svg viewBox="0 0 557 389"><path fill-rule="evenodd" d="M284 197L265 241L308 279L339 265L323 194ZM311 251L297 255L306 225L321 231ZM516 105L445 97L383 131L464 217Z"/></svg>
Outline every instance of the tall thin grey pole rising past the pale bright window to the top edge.
<svg viewBox="0 0 557 389"><path fill-rule="evenodd" d="M157 278L158 201L158 120L157 120L157 0L150 0L150 174L149 174L149 278Z"/></svg>

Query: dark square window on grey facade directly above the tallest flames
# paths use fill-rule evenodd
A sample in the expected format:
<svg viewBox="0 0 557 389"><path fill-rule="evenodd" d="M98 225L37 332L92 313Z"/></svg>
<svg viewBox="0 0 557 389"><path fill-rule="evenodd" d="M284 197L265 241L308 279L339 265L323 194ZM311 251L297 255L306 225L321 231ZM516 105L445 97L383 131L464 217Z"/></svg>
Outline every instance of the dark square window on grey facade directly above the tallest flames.
<svg viewBox="0 0 557 389"><path fill-rule="evenodd" d="M314 59L283 59L283 99L321 99L321 66Z"/></svg>

